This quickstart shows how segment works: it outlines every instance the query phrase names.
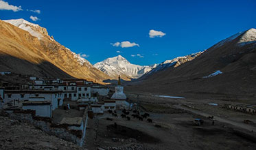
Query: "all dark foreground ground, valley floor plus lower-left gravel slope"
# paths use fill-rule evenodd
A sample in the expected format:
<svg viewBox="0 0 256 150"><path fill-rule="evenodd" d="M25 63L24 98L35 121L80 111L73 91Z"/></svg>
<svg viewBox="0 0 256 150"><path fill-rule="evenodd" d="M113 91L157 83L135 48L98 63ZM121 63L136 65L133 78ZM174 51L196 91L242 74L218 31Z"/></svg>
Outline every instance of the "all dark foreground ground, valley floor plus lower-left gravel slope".
<svg viewBox="0 0 256 150"><path fill-rule="evenodd" d="M0 117L0 148L182 150L256 147L256 124L244 123L244 120L256 123L256 116L222 108L222 104L237 102L153 97L151 93L126 95L130 102L139 104L141 114L150 114L152 123L146 119L139 121L133 118L132 111L128 115L130 121L121 117L121 110L117 110L118 117L113 117L108 112L104 115L95 115L93 119L88 119L85 143L80 148L56 136L49 136L30 124ZM214 116L214 125L208 116ZM195 118L203 119L204 123L200 126L194 125Z"/></svg>

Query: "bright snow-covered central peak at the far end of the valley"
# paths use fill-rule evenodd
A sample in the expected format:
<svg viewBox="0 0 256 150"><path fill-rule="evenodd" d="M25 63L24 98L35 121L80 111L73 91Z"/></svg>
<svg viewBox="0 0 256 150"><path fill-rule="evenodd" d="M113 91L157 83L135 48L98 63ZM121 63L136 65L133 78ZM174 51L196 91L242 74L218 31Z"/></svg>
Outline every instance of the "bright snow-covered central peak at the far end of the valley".
<svg viewBox="0 0 256 150"><path fill-rule="evenodd" d="M93 66L108 76L117 78L117 76L120 75L124 80L139 78L143 74L146 74L146 72L152 70L152 68L156 67L156 65L134 65L121 55L105 59L104 61L95 63Z"/></svg>

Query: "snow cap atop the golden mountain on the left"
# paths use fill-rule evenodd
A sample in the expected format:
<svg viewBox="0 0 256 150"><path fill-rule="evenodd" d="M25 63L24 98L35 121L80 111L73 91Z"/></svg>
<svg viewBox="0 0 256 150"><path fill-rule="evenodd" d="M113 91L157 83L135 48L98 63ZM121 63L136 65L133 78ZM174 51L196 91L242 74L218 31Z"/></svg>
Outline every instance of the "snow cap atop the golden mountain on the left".
<svg viewBox="0 0 256 150"><path fill-rule="evenodd" d="M34 29L32 29L33 27L38 29L40 28L39 25L36 25L34 23L30 23L27 20L24 19L12 19L12 20L3 20L6 23L10 23L16 27L19 27L20 29L23 29L25 31L28 31L31 35L35 36L38 38L38 40L40 40L43 35L41 33L38 33L37 31L34 31Z"/></svg>

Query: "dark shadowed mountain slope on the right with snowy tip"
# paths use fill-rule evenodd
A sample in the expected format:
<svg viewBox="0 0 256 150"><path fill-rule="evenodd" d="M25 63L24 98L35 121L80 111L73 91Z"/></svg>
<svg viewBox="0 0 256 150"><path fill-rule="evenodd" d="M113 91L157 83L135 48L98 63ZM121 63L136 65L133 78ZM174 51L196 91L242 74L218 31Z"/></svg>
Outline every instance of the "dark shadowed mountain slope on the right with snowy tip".
<svg viewBox="0 0 256 150"><path fill-rule="evenodd" d="M255 100L255 76L256 29L248 29L218 42L192 61L129 83L126 89L183 97Z"/></svg>

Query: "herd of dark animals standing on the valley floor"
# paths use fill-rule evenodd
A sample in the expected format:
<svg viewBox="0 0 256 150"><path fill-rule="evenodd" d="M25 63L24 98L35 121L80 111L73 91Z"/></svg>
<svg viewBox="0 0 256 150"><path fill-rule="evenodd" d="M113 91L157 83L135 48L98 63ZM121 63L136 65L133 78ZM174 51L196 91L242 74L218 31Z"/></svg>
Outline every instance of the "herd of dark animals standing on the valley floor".
<svg viewBox="0 0 256 150"><path fill-rule="evenodd" d="M116 110L108 110L110 114L112 114L113 117L118 117L117 111ZM128 116L130 114L130 111L126 110L125 108L121 111L122 114L120 115L122 118L127 119L130 121L130 117ZM139 121L143 121L143 119L147 119L149 123L152 123L152 119L148 118L150 117L149 113L144 113L141 115L141 112L139 110L132 110L132 115L133 119L139 119ZM113 121L111 118L106 118L109 121Z"/></svg>

